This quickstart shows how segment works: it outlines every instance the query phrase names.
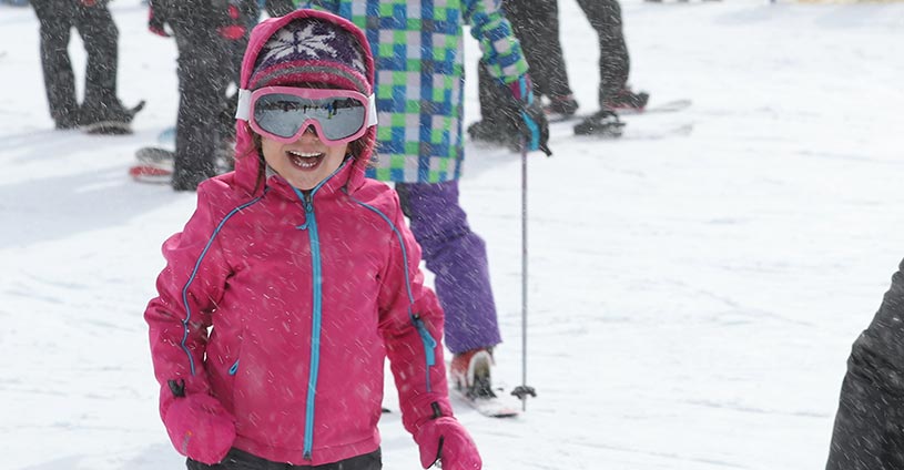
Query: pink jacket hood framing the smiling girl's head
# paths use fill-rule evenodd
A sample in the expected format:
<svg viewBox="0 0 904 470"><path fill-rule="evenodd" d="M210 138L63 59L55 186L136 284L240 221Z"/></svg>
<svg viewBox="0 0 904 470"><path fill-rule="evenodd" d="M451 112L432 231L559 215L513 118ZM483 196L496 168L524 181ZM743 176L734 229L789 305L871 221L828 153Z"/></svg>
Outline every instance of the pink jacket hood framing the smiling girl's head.
<svg viewBox="0 0 904 470"><path fill-rule="evenodd" d="M336 24L337 27L352 33L360 43L364 62L367 74L368 90L366 94L374 92L374 57L370 52L370 44L364 32L358 29L351 21L318 10L295 10L285 17L271 18L258 23L251 32L248 39L248 47L245 50L245 55L242 59L242 74L241 74L241 89L253 91L250 89L252 73L254 65L257 62L257 55L264 49L267 41L283 27L292 21L314 18L326 22ZM236 120L235 122L235 182L243 187L248 194L258 195L263 187L255 187L257 175L262 165L262 155L254 149L253 131L246 121ZM359 139L364 142L364 151L359 155L352 155L354 157L352 171L347 173L347 181L344 186L349 193L356 191L364 183L364 173L367 168L370 159L374 155L374 147L376 145L376 126L370 126L367 132ZM345 173L345 172L343 172ZM262 185L264 186L264 185ZM255 192L256 190L256 192Z"/></svg>

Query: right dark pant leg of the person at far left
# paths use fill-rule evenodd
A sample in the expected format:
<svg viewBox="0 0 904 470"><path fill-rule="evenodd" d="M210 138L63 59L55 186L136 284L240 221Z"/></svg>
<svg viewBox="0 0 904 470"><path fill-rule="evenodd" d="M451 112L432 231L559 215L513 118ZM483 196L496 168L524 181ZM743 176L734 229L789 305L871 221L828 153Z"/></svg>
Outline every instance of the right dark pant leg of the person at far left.
<svg viewBox="0 0 904 470"><path fill-rule="evenodd" d="M119 29L105 2L91 7L79 4L75 28L84 42L88 64L84 75L85 122L121 119L122 104L116 98L119 72Z"/></svg>

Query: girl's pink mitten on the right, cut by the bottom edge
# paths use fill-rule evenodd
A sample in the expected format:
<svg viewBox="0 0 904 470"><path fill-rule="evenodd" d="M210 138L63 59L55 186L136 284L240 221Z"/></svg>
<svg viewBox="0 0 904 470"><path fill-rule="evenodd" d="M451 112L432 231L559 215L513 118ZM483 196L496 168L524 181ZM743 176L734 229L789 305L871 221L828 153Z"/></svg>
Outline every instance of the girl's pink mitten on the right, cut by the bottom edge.
<svg viewBox="0 0 904 470"><path fill-rule="evenodd" d="M443 461L443 470L480 470L484 466L470 435L453 417L425 422L415 441L420 448L420 464L425 469L438 460Z"/></svg>

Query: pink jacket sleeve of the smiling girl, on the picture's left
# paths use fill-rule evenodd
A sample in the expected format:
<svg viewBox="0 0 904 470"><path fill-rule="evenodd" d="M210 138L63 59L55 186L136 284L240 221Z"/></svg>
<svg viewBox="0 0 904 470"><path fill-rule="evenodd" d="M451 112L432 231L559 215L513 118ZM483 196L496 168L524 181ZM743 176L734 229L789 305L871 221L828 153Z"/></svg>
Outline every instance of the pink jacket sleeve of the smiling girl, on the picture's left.
<svg viewBox="0 0 904 470"><path fill-rule="evenodd" d="M159 295L144 311L161 386L161 417L175 397L210 392L204 371L207 328L228 268L215 239L219 221L213 219L203 188L185 228L163 243L166 267L156 280Z"/></svg>

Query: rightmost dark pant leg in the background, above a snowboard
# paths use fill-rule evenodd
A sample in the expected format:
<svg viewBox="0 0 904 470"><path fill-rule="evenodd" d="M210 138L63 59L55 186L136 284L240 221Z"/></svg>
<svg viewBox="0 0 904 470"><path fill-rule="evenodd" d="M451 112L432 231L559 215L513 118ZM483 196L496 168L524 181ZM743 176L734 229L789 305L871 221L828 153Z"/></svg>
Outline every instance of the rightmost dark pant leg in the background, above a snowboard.
<svg viewBox="0 0 904 470"><path fill-rule="evenodd" d="M599 102L602 106L609 96L624 89L631 69L622 31L621 6L617 0L578 0L578 4L599 37Z"/></svg>

